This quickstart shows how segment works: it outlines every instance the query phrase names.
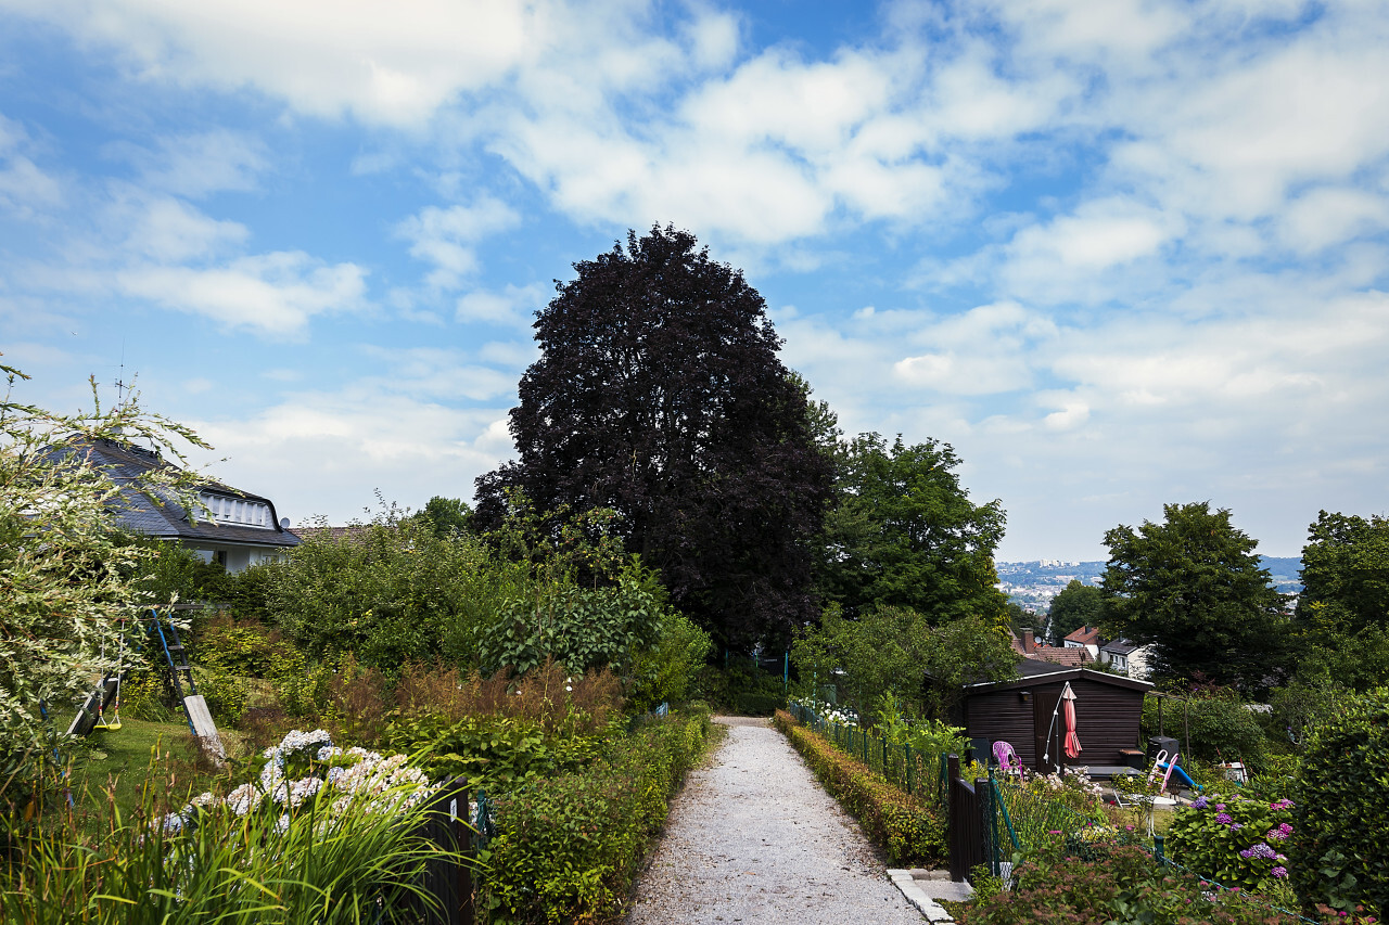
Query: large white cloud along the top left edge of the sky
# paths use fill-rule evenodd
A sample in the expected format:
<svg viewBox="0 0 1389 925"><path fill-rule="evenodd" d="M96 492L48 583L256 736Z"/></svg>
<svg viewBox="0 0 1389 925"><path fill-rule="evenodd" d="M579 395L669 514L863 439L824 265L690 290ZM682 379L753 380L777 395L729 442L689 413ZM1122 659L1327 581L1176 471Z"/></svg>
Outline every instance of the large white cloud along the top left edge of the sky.
<svg viewBox="0 0 1389 925"><path fill-rule="evenodd" d="M410 0L7 0L114 47L146 81L256 89L313 115L411 126L535 54L546 4Z"/></svg>

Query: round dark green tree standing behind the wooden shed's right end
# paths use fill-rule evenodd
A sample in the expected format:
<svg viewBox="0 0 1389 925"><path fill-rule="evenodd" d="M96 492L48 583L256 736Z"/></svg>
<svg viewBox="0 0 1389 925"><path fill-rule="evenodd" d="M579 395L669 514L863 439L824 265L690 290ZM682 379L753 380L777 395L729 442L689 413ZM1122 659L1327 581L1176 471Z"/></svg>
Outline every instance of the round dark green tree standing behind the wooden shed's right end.
<svg viewBox="0 0 1389 925"><path fill-rule="evenodd" d="M1263 688L1278 669L1288 621L1258 544L1208 501L1164 504L1163 524L1104 533L1107 635L1151 643L1158 678Z"/></svg>

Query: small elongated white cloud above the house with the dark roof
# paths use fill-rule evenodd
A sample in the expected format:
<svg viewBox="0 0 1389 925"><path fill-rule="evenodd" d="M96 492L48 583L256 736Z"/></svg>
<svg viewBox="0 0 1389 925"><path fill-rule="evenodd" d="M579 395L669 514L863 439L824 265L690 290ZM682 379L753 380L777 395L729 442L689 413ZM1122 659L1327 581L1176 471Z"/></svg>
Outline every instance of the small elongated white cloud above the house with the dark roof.
<svg viewBox="0 0 1389 925"><path fill-rule="evenodd" d="M226 328L301 336L315 315L361 308L365 275L356 264L328 267L301 251L276 251L208 269L122 269L115 279L128 296L206 315Z"/></svg>

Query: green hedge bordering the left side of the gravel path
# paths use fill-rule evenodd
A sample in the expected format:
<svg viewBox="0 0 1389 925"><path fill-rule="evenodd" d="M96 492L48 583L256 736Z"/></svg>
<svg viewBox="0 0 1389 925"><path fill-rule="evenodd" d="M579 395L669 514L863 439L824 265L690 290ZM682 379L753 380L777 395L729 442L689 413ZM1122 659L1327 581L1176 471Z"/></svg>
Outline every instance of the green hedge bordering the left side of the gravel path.
<svg viewBox="0 0 1389 925"><path fill-rule="evenodd" d="M499 796L497 835L479 856L483 921L619 918L646 844L710 729L707 711L653 721L581 771Z"/></svg>

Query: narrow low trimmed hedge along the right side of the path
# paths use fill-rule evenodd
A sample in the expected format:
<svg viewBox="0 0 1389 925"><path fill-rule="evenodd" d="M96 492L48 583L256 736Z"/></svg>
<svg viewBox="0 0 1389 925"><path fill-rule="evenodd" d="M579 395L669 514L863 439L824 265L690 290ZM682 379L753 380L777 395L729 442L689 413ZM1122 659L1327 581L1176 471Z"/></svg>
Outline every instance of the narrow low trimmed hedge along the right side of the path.
<svg viewBox="0 0 1389 925"><path fill-rule="evenodd" d="M935 864L946 857L945 821L925 800L901 792L785 710L776 711L774 722L890 862Z"/></svg>

